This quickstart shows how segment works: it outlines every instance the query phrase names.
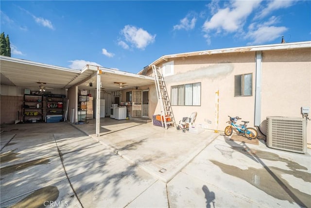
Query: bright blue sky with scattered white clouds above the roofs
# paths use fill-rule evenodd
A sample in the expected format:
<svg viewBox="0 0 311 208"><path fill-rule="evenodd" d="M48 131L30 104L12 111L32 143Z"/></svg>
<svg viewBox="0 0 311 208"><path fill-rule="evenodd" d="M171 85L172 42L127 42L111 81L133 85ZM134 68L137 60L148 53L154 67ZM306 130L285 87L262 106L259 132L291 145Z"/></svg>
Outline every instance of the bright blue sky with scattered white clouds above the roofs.
<svg viewBox="0 0 311 208"><path fill-rule="evenodd" d="M138 73L163 55L311 40L311 1L6 1L11 57Z"/></svg>

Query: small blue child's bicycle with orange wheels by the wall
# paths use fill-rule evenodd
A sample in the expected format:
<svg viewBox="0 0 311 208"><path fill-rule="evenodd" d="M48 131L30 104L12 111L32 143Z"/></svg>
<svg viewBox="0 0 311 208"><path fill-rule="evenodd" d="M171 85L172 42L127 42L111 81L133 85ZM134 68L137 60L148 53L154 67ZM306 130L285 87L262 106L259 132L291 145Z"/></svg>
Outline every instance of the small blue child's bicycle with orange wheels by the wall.
<svg viewBox="0 0 311 208"><path fill-rule="evenodd" d="M238 130L239 133L244 134L248 139L256 139L258 137L258 131L252 127L246 127L246 124L249 123L249 121L242 121L244 124L243 125L237 125L236 122L242 118L239 116L236 117L230 117L230 126L227 126L225 128L225 135L226 136L231 136L233 133L233 128Z"/></svg>

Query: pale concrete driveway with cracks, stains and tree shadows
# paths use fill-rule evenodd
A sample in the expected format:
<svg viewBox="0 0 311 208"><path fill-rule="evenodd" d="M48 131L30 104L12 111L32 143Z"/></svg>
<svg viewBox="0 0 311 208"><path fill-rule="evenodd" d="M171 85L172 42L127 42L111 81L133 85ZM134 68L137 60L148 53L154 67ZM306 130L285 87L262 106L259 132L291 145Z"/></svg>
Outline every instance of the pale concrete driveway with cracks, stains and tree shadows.
<svg viewBox="0 0 311 208"><path fill-rule="evenodd" d="M0 207L311 207L310 150L101 124L2 126Z"/></svg>

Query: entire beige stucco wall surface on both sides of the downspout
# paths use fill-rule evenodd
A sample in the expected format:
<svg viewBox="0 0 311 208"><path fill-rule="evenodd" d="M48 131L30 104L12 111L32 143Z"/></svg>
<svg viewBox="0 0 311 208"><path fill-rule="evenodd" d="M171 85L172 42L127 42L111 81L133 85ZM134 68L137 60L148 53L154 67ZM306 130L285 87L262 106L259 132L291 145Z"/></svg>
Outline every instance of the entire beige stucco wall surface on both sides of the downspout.
<svg viewBox="0 0 311 208"><path fill-rule="evenodd" d="M227 53L198 57L170 58L174 75L166 76L166 86L201 82L201 106L173 106L175 121L198 112L196 124L224 131L228 117L240 116L254 126L256 53ZM162 67L162 65L158 65ZM234 96L234 76L252 73L252 96ZM265 51L262 54L261 122L266 116L302 117L300 108L311 107L311 49ZM216 92L219 91L217 101ZM217 111L217 103L219 110ZM159 113L156 106L155 114ZM311 116L309 116L311 117ZM218 123L217 123L218 122ZM311 147L311 121L307 143Z"/></svg>

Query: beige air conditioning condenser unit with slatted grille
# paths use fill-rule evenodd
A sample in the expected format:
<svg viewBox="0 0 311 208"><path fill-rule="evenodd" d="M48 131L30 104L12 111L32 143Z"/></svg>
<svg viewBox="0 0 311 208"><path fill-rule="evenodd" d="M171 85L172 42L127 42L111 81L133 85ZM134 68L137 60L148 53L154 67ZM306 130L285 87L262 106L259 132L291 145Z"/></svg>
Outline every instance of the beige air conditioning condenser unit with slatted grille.
<svg viewBox="0 0 311 208"><path fill-rule="evenodd" d="M307 121L299 117L267 116L267 145L270 148L307 152Z"/></svg>

